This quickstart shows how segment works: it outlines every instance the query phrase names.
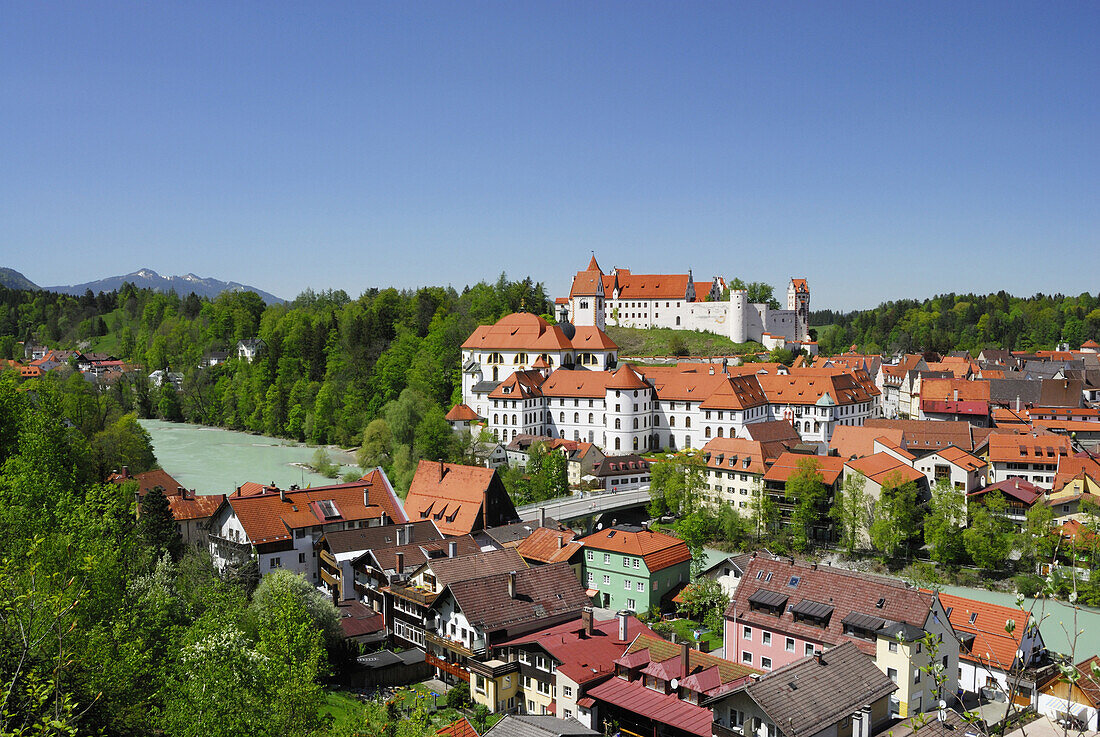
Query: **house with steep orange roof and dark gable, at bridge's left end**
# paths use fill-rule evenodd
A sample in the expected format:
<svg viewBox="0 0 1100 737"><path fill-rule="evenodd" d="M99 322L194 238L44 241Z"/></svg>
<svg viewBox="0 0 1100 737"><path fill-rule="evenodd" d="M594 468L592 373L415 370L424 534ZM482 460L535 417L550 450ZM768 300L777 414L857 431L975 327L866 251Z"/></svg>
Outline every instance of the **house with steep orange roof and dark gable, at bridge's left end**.
<svg viewBox="0 0 1100 737"><path fill-rule="evenodd" d="M410 521L431 519L443 535L469 535L518 521L495 469L420 461L405 497Z"/></svg>

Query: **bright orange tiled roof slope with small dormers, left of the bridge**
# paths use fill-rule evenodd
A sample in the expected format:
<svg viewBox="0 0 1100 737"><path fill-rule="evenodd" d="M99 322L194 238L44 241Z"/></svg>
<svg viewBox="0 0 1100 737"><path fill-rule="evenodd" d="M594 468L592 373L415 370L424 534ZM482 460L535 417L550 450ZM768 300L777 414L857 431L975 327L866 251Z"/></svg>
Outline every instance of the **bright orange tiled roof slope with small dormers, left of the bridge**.
<svg viewBox="0 0 1100 737"><path fill-rule="evenodd" d="M410 519L432 519L443 535L475 529L496 471L480 465L420 461L405 497Z"/></svg>

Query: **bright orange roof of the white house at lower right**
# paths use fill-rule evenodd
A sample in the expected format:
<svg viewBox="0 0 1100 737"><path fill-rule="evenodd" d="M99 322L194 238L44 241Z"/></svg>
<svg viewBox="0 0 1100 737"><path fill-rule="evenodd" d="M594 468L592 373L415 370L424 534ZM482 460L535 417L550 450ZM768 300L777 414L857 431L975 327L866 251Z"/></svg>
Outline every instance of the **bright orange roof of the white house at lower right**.
<svg viewBox="0 0 1100 737"><path fill-rule="evenodd" d="M974 635L970 649L960 648L959 658L1004 671L1013 667L1027 634L1025 610L944 593L939 594L939 602L956 632ZM1004 629L1010 619L1016 625L1011 635Z"/></svg>

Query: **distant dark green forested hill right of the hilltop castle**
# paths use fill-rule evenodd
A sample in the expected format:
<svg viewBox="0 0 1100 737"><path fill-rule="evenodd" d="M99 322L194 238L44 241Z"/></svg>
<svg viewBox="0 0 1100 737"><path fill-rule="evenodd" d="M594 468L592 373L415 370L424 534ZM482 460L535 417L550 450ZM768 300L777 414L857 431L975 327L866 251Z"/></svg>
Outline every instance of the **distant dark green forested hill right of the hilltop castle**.
<svg viewBox="0 0 1100 737"><path fill-rule="evenodd" d="M1100 295L938 295L923 301L902 299L855 312L818 310L811 315L822 353L930 350L980 351L1004 348L1053 349L1060 342L1078 348L1100 340Z"/></svg>

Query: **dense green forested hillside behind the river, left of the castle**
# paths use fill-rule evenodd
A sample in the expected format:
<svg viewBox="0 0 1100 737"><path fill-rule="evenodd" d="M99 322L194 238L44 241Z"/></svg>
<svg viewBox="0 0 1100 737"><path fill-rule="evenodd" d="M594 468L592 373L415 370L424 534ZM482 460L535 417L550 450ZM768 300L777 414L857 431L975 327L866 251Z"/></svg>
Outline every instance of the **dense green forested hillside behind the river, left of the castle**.
<svg viewBox="0 0 1100 737"><path fill-rule="evenodd" d="M408 463L453 452L428 446L450 438L440 431L461 392L460 346L477 324L520 309L548 314L551 304L540 283L503 274L461 294L369 289L352 299L307 292L268 306L253 293L208 300L131 284L82 297L0 288L0 358L15 358L19 340L112 353L144 366L106 393L127 411L315 443L358 446L366 425L386 417L393 438L385 451L400 451ZM266 350L255 363L199 369L208 352L256 337ZM178 395L143 380L157 369L183 374ZM86 391L78 382L73 388Z"/></svg>

